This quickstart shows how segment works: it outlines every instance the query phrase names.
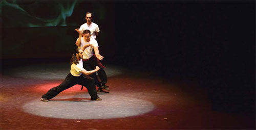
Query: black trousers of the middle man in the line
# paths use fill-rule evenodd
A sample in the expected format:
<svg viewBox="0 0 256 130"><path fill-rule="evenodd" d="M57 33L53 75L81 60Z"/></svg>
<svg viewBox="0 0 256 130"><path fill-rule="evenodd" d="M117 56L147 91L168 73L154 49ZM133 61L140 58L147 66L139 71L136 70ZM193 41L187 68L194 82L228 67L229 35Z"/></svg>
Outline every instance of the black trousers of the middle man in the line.
<svg viewBox="0 0 256 130"><path fill-rule="evenodd" d="M97 87L101 88L101 84L105 85L106 82L108 82L108 79L106 77L106 72L103 69L104 66L99 62L99 60L94 55L89 60L82 61L82 63L83 63L83 68L86 70L94 70L96 66L100 68L100 70L98 70L98 74L99 74L101 83L96 77L96 72L90 74L90 76L93 77L93 79L95 80Z"/></svg>

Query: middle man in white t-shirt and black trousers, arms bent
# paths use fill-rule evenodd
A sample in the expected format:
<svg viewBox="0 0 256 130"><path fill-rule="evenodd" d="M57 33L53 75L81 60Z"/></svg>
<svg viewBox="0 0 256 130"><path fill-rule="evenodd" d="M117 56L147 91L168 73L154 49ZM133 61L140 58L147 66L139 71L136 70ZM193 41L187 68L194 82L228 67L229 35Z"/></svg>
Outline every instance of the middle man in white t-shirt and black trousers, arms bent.
<svg viewBox="0 0 256 130"><path fill-rule="evenodd" d="M83 34L78 29L75 30L79 34L79 37L76 40L76 45L78 47L86 46L85 50L83 51L83 67L86 70L92 70L95 68L95 66L99 66L100 70L103 70L105 67L99 62L99 60L102 60L104 57L99 54L98 42L95 39L91 39L90 30L84 30ZM93 50L95 54L93 53ZM90 76L95 79L96 86L99 87L98 91L103 92L102 88L103 86L105 87L104 82L106 83L107 81L106 73L99 74L101 83L98 81L96 73L93 73Z"/></svg>

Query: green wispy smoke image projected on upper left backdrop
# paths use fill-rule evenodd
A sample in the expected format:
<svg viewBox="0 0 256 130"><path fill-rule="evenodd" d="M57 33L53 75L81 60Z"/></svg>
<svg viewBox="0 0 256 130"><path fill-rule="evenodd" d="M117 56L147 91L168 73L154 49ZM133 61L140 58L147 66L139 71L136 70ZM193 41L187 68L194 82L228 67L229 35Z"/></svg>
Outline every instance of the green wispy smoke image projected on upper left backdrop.
<svg viewBox="0 0 256 130"><path fill-rule="evenodd" d="M75 4L76 1L2 1L2 24L5 27L66 26L66 18L72 15Z"/></svg>

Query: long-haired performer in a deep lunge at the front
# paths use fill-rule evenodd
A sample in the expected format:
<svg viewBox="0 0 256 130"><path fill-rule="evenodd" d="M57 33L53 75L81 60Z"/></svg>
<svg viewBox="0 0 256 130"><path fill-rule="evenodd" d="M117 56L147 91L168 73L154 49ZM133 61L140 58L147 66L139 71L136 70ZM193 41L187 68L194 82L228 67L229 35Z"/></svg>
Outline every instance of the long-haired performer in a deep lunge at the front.
<svg viewBox="0 0 256 130"><path fill-rule="evenodd" d="M92 100L101 100L101 98L97 96L95 80L92 77L87 76L89 74L92 74L98 71L100 68L96 66L94 70L90 70L90 71L83 69L82 53L83 53L82 49L80 48L76 49L76 53L73 54L71 57L71 60L70 60L71 70L70 70L70 73L67 75L65 81L63 81L59 86L51 88L46 94L42 95L41 101L48 101L49 99L58 95L60 92L76 84L85 86Z"/></svg>

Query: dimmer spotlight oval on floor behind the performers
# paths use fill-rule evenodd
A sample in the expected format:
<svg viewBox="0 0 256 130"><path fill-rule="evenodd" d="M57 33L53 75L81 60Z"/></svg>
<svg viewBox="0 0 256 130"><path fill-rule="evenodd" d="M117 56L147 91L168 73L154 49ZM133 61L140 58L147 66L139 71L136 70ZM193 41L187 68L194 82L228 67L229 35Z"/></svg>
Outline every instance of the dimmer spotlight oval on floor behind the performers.
<svg viewBox="0 0 256 130"><path fill-rule="evenodd" d="M125 70L118 66L106 65L108 77L122 74ZM69 63L49 63L20 66L6 70L8 75L43 80L63 80L70 73Z"/></svg>

